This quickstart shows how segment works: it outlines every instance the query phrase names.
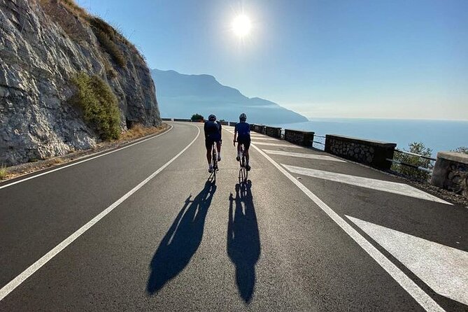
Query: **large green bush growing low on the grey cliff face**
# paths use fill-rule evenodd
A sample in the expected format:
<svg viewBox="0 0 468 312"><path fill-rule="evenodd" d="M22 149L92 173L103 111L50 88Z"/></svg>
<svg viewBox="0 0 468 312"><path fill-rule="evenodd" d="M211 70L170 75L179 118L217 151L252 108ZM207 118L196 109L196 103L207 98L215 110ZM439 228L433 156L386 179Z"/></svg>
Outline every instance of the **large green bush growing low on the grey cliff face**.
<svg viewBox="0 0 468 312"><path fill-rule="evenodd" d="M101 139L118 139L120 111L111 87L99 76L88 76L86 73L79 73L72 81L78 89L74 101L83 110L87 125Z"/></svg>

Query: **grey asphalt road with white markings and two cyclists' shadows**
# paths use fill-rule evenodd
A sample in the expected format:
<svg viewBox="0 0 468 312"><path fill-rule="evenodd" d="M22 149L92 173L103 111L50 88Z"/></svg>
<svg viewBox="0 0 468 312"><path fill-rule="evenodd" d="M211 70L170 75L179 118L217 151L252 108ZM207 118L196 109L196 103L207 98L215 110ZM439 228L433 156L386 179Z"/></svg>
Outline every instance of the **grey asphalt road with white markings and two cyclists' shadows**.
<svg viewBox="0 0 468 312"><path fill-rule="evenodd" d="M171 125L0 183L0 311L468 311L466 208L258 134L239 183L228 127L213 180Z"/></svg>

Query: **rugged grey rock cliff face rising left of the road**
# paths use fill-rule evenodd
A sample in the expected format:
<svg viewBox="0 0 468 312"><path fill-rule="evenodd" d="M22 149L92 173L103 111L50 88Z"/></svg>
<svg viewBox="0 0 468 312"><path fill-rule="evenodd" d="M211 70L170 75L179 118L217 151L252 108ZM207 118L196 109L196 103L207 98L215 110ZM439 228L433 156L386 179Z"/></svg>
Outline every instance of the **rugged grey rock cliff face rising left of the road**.
<svg viewBox="0 0 468 312"><path fill-rule="evenodd" d="M122 130L160 124L146 62L118 31L73 0L0 0L0 165L96 145L70 100L80 72L111 86Z"/></svg>

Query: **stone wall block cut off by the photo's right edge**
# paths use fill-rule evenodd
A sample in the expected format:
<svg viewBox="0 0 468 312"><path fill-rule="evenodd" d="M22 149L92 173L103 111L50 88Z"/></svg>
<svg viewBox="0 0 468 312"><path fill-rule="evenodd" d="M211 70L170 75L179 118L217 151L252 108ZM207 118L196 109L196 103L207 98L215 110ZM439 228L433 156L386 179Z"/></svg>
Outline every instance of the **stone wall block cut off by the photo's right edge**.
<svg viewBox="0 0 468 312"><path fill-rule="evenodd" d="M468 198L468 155L455 152L437 153L431 183Z"/></svg>

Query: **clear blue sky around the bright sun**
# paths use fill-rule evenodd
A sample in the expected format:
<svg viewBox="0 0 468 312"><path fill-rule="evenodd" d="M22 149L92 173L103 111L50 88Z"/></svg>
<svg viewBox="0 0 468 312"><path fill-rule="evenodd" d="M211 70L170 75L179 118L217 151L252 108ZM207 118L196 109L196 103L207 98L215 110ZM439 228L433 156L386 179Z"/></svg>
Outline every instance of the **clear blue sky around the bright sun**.
<svg viewBox="0 0 468 312"><path fill-rule="evenodd" d="M468 120L467 0L76 1L151 68L208 73L307 117Z"/></svg>

